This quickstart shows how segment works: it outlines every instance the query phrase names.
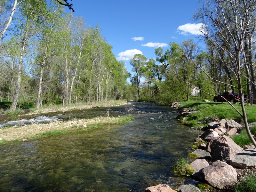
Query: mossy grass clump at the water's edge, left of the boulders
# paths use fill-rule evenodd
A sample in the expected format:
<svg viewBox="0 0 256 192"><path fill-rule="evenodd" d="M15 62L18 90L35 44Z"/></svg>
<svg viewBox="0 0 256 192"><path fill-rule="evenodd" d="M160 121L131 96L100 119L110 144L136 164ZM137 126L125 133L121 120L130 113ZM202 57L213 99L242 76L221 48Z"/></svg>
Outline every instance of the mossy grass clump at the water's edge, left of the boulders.
<svg viewBox="0 0 256 192"><path fill-rule="evenodd" d="M175 166L173 167L173 172L178 175L192 175L194 170L191 164L188 164L188 159L185 157L180 157L174 161Z"/></svg>

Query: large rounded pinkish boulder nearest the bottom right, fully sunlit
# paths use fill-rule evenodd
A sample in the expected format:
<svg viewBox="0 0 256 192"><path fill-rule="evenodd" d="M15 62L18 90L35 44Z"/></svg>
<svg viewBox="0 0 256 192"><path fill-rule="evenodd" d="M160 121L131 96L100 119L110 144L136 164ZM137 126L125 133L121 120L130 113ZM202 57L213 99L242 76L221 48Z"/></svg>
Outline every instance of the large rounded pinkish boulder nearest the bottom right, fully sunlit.
<svg viewBox="0 0 256 192"><path fill-rule="evenodd" d="M202 170L204 179L213 187L222 189L237 180L236 170L225 162L215 161Z"/></svg>

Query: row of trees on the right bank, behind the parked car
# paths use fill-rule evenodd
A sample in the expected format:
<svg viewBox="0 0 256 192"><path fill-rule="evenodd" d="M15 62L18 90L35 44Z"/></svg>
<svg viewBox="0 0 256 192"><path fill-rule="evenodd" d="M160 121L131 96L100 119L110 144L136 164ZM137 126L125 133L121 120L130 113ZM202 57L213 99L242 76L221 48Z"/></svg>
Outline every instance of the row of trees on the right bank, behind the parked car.
<svg viewBox="0 0 256 192"><path fill-rule="evenodd" d="M252 104L255 84L255 7L251 0L202 0L195 14L201 22L201 42L192 39L167 50L155 49L156 59L135 55L130 61L132 84L139 100L165 104L188 100L191 90L212 99L224 91L248 94ZM142 81L141 81L142 79Z"/></svg>

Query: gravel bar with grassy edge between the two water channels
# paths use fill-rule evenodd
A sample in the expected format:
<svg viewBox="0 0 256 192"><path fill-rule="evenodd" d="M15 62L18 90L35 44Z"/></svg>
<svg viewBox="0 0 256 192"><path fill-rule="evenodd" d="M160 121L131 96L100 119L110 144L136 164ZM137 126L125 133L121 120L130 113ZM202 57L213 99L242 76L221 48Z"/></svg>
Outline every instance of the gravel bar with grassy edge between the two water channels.
<svg viewBox="0 0 256 192"><path fill-rule="evenodd" d="M67 122L53 122L50 124L31 124L22 127L6 127L1 129L0 145L21 140L35 140L43 137L66 133L90 132L105 125L124 124L133 121L132 116L96 117Z"/></svg>

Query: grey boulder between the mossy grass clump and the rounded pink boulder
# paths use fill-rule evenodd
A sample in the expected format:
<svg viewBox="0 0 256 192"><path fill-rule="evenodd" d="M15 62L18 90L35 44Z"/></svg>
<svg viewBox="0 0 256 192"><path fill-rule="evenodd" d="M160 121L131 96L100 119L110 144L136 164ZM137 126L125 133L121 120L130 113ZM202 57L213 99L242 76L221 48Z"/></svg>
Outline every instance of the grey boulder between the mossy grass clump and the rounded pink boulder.
<svg viewBox="0 0 256 192"><path fill-rule="evenodd" d="M203 174L202 170L205 167L209 166L208 161L206 161L205 159L196 159L196 161L193 161L191 163L191 166L192 166L192 169L194 170L192 177L196 180L203 181L204 174Z"/></svg>

